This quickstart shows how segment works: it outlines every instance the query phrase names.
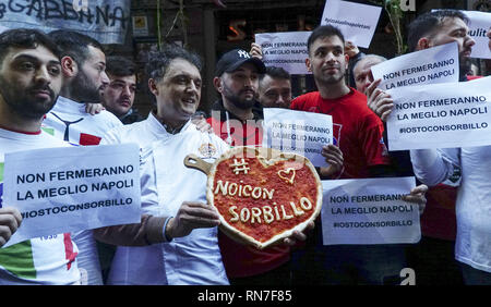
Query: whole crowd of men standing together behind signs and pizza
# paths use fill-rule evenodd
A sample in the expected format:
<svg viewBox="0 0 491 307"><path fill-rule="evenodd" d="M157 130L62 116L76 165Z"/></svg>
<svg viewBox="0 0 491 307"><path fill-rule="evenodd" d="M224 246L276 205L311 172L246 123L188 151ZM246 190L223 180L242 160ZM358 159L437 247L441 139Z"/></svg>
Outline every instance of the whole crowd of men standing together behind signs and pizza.
<svg viewBox="0 0 491 307"><path fill-rule="evenodd" d="M465 82L475 45L467 23L457 11L424 13L409 25L409 51L456 41ZM491 28L488 37L491 49ZM200 56L178 46L151 52L146 74L156 103L145 119L133 108L134 64L106 59L93 38L70 30L0 34L0 179L9 152L135 143L142 200L140 223L1 248L0 284L399 284L408 267L423 284L491 284L488 146L387 151L384 125L394 101L370 71L386 59L359 52L331 25L316 27L307 46L318 90L295 99L289 73L266 67L258 45L224 53L206 121L195 116ZM93 103L104 108L87 112ZM325 246L320 220L261 250L224 234L206 204L206 176L182 161L200 156L202 144L215 148L207 161L230 146L261 146L264 108L332 115L337 137L320 145L330 164L316 168L322 180L416 175L420 184L405 200L420 208L421 242ZM14 204L0 205L2 246L22 217Z"/></svg>

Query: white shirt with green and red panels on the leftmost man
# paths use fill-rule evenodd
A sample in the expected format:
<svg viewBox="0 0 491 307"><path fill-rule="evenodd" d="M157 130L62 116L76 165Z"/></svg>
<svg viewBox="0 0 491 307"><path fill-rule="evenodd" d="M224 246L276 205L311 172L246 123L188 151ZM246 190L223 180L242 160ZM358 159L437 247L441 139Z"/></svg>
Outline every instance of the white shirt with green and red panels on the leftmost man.
<svg viewBox="0 0 491 307"><path fill-rule="evenodd" d="M0 196L8 152L69 146L45 132L25 134L0 128ZM9 204L2 204L3 207ZM70 233L37 237L0 248L0 284L65 285L80 281L79 253Z"/></svg>

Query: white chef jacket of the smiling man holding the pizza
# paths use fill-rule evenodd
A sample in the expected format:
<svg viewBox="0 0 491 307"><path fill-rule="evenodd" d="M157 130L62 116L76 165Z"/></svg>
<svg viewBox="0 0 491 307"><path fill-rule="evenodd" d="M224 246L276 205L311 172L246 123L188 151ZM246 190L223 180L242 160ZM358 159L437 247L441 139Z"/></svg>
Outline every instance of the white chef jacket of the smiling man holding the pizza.
<svg viewBox="0 0 491 307"><path fill-rule="evenodd" d="M145 121L109 132L103 144L136 143L141 148L142 210L175 217L182 201L206 202L206 175L184 165L194 154L213 162L229 147L188 122L169 134L151 113ZM144 260L142 260L144 259ZM119 246L110 284L228 284L217 228L195 229L184 237L143 247Z"/></svg>

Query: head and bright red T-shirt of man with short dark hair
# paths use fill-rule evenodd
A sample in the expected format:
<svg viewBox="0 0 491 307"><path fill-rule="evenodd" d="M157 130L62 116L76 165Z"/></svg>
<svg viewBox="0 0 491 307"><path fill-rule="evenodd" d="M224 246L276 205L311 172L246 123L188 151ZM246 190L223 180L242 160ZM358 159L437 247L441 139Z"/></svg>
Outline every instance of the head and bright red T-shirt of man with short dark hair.
<svg viewBox="0 0 491 307"><path fill-rule="evenodd" d="M348 56L343 34L335 27L318 27L308 41L308 70L319 91L297 97L292 110L333 116L334 142L345 159L340 177L361 179L383 173L390 167L383 144L383 124L367 107L367 97L346 85Z"/></svg>

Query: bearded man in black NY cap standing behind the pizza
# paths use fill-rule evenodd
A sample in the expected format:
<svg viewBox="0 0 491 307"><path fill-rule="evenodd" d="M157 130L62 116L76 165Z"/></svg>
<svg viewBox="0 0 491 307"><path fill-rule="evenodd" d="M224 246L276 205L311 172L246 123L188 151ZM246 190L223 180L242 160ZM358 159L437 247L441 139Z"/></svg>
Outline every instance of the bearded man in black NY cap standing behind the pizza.
<svg viewBox="0 0 491 307"><path fill-rule="evenodd" d="M264 63L248 51L235 49L216 64L213 81L220 98L207 120L214 132L232 146L261 146L263 119L255 99ZM288 285L290 247L277 245L259 250L240 245L219 232L221 259L230 284Z"/></svg>

